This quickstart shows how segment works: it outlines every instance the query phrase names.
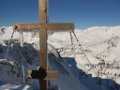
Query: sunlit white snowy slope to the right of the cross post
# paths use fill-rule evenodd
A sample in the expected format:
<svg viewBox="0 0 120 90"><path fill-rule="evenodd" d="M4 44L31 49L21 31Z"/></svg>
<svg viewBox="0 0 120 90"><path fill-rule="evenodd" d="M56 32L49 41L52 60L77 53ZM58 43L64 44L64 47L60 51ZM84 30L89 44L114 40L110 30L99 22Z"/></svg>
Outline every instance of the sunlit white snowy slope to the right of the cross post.
<svg viewBox="0 0 120 90"><path fill-rule="evenodd" d="M54 33L49 39L61 50L62 56L74 56L77 66L87 73L120 83L120 26L76 30L79 41L72 36L74 50L71 49L69 33L62 33L63 38L59 37L60 34Z"/></svg>

